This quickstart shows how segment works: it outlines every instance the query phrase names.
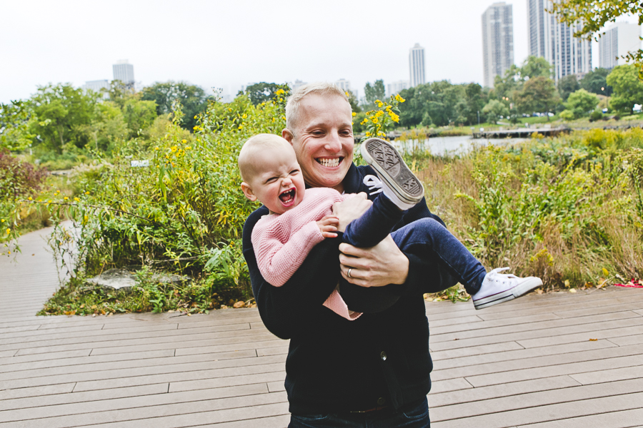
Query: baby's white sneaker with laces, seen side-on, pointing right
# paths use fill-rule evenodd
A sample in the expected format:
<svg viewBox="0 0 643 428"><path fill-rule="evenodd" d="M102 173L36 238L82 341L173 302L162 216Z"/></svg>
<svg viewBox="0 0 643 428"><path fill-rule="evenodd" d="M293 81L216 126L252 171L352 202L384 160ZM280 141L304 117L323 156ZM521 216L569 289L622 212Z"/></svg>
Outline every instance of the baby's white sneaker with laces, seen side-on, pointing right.
<svg viewBox="0 0 643 428"><path fill-rule="evenodd" d="M499 273L507 269L509 267L498 267L484 276L482 287L472 297L476 309L514 300L542 285L539 277L521 278L511 273Z"/></svg>

